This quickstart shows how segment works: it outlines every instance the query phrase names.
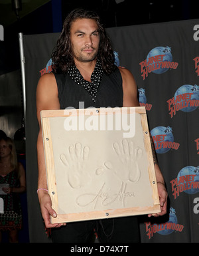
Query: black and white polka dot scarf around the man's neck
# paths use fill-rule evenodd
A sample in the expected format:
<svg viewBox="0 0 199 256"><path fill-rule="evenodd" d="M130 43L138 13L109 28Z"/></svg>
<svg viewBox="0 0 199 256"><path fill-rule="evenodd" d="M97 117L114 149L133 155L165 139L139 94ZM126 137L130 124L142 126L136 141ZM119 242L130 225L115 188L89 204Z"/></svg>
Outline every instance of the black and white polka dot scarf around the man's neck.
<svg viewBox="0 0 199 256"><path fill-rule="evenodd" d="M96 66L94 68L94 72L92 72L91 81L84 80L82 74L75 65L70 66L68 68L68 74L70 77L76 82L76 84L82 85L92 97L92 100L96 102L96 96L98 92L98 87L100 86L101 78L103 75L103 70L101 68L101 63L99 60L96 62Z"/></svg>

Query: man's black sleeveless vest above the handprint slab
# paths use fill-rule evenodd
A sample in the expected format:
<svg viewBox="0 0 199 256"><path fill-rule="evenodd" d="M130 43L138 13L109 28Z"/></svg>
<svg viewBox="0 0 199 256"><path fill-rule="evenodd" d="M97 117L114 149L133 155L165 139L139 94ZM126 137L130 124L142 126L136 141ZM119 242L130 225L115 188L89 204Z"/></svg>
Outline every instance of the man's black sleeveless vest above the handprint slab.
<svg viewBox="0 0 199 256"><path fill-rule="evenodd" d="M84 102L84 108L114 108L123 106L122 78L118 68L108 76L103 73L96 96L96 102L92 100L90 94L88 94L87 90L82 85L76 84L76 82L70 78L69 74L54 73L54 76L58 86L60 109L68 107L76 109L82 108L79 102Z"/></svg>

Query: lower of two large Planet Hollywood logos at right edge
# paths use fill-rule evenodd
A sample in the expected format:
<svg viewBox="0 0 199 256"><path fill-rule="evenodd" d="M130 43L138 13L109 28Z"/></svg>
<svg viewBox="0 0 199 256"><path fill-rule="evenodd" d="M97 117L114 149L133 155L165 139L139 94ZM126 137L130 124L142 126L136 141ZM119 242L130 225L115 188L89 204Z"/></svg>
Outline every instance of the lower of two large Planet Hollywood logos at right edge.
<svg viewBox="0 0 199 256"><path fill-rule="evenodd" d="M199 192L199 166L186 166L178 172L177 178L170 181L172 195L176 199L180 193Z"/></svg>

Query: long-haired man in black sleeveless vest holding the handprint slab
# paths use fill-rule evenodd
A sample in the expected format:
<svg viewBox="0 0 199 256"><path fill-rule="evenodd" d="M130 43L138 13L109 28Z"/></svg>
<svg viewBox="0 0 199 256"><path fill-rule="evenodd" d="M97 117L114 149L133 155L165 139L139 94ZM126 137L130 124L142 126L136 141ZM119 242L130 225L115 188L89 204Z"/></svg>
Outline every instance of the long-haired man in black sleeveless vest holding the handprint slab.
<svg viewBox="0 0 199 256"><path fill-rule="evenodd" d="M37 116L41 110L67 107L127 107L139 106L137 85L126 68L117 68L113 49L100 17L83 9L76 9L66 17L56 49L52 53L52 72L38 81L36 91ZM46 183L42 132L38 134L38 199L46 227L52 227L52 241L92 241L96 229L101 242L139 242L137 217L119 217L74 223L50 223L52 209ZM155 162L161 213L166 213L166 189L163 176Z"/></svg>

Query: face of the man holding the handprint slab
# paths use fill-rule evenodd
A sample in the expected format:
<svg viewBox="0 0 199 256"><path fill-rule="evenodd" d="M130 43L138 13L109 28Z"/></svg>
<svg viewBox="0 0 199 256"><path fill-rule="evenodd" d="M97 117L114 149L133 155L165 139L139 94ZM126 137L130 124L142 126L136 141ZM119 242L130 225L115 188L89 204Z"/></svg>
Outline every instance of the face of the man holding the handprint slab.
<svg viewBox="0 0 199 256"><path fill-rule="evenodd" d="M93 19L77 19L70 27L74 61L90 62L96 59L100 45L98 25Z"/></svg>

